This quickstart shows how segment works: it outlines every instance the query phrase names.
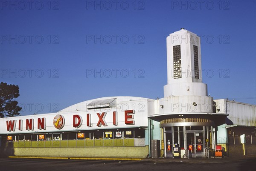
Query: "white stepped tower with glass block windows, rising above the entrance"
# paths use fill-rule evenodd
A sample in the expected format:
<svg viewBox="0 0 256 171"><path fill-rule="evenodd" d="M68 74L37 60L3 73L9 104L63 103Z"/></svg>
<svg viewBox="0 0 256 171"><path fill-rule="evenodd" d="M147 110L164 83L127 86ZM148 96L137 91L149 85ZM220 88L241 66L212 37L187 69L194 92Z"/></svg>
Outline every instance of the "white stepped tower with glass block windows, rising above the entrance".
<svg viewBox="0 0 256 171"><path fill-rule="evenodd" d="M202 83L200 37L181 28L166 38L167 85L164 97L207 96Z"/></svg>

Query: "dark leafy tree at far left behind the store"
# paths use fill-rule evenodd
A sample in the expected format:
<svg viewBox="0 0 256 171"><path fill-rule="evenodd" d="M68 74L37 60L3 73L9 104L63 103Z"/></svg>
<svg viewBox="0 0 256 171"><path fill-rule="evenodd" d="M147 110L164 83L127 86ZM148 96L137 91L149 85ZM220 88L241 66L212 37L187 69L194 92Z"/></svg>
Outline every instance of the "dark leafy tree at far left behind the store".
<svg viewBox="0 0 256 171"><path fill-rule="evenodd" d="M18 85L0 83L0 117L15 117L20 115L19 111L22 108L14 100L19 96Z"/></svg>

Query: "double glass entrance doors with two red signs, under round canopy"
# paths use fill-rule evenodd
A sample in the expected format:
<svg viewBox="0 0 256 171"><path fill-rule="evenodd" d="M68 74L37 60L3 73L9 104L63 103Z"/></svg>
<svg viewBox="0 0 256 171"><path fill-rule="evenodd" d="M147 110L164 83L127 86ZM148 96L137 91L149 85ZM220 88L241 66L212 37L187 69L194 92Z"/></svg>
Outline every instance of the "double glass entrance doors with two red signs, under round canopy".
<svg viewBox="0 0 256 171"><path fill-rule="evenodd" d="M203 132L187 132L187 149L192 154L191 157L204 157L204 136Z"/></svg>

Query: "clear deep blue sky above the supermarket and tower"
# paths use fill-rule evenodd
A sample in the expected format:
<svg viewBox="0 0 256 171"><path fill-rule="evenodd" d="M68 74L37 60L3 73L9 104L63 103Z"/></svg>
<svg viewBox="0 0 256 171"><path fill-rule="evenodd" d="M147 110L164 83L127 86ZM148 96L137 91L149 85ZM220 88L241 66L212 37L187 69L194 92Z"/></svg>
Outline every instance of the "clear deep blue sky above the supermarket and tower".
<svg viewBox="0 0 256 171"><path fill-rule="evenodd" d="M256 104L256 1L200 2L0 0L0 80L19 85L22 115L161 98L166 37L183 27L201 37L208 93Z"/></svg>

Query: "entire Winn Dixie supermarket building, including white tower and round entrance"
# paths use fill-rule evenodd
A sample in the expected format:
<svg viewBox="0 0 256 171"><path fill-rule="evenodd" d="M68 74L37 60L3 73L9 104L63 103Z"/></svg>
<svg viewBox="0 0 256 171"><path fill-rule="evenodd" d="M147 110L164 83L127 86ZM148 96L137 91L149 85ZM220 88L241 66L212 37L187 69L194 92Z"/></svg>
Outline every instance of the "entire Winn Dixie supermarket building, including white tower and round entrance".
<svg viewBox="0 0 256 171"><path fill-rule="evenodd" d="M209 157L256 153L256 106L207 96L200 37L167 39L164 97L102 97L57 113L0 118L1 155Z"/></svg>

